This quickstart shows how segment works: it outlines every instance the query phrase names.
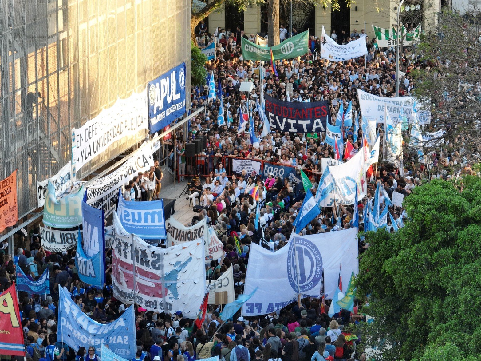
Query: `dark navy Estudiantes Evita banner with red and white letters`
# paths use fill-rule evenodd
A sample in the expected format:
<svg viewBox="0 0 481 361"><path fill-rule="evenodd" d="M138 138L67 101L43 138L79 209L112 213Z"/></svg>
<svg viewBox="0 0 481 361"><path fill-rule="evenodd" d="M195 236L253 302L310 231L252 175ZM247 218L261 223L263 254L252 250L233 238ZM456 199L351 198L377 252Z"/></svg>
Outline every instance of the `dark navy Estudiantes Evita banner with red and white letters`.
<svg viewBox="0 0 481 361"><path fill-rule="evenodd" d="M326 131L330 118L329 102L285 102L269 95L266 99L266 116L271 129L290 133L319 133Z"/></svg>

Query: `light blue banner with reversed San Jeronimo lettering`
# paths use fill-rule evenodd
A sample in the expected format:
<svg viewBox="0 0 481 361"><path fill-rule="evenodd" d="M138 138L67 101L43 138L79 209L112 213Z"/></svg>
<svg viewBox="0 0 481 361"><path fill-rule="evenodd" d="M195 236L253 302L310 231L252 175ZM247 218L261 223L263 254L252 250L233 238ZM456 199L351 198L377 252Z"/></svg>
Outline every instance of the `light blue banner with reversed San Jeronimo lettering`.
<svg viewBox="0 0 481 361"><path fill-rule="evenodd" d="M100 355L102 344L127 359L137 352L134 306L130 306L114 322L102 324L90 319L70 298L66 288L59 287L59 327L57 341L64 342L75 351L85 345L93 346Z"/></svg>

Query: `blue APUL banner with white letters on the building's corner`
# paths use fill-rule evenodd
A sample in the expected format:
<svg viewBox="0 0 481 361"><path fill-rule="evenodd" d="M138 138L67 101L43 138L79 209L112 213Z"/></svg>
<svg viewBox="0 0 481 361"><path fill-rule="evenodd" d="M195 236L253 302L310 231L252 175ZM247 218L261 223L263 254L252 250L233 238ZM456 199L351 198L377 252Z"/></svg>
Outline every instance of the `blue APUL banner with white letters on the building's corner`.
<svg viewBox="0 0 481 361"><path fill-rule="evenodd" d="M155 133L185 113L185 63L149 81L150 131Z"/></svg>

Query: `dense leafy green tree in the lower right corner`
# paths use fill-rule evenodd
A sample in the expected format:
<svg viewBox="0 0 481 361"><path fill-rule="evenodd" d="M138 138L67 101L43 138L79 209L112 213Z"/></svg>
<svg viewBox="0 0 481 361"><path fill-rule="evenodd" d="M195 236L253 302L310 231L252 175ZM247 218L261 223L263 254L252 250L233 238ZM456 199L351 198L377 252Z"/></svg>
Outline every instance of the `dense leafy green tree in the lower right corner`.
<svg viewBox="0 0 481 361"><path fill-rule="evenodd" d="M355 284L374 322L359 331L382 360L481 359L481 178L458 188L419 186L405 198L405 227L366 234Z"/></svg>

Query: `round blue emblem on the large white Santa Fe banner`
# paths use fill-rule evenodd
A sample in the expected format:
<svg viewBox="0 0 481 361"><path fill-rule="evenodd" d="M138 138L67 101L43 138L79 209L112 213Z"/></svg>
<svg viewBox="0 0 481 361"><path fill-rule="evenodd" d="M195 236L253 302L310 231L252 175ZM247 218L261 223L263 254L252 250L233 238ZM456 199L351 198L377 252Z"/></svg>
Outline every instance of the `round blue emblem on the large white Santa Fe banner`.
<svg viewBox="0 0 481 361"><path fill-rule="evenodd" d="M314 243L300 237L292 241L287 256L287 278L298 293L309 293L321 281L322 256Z"/></svg>

